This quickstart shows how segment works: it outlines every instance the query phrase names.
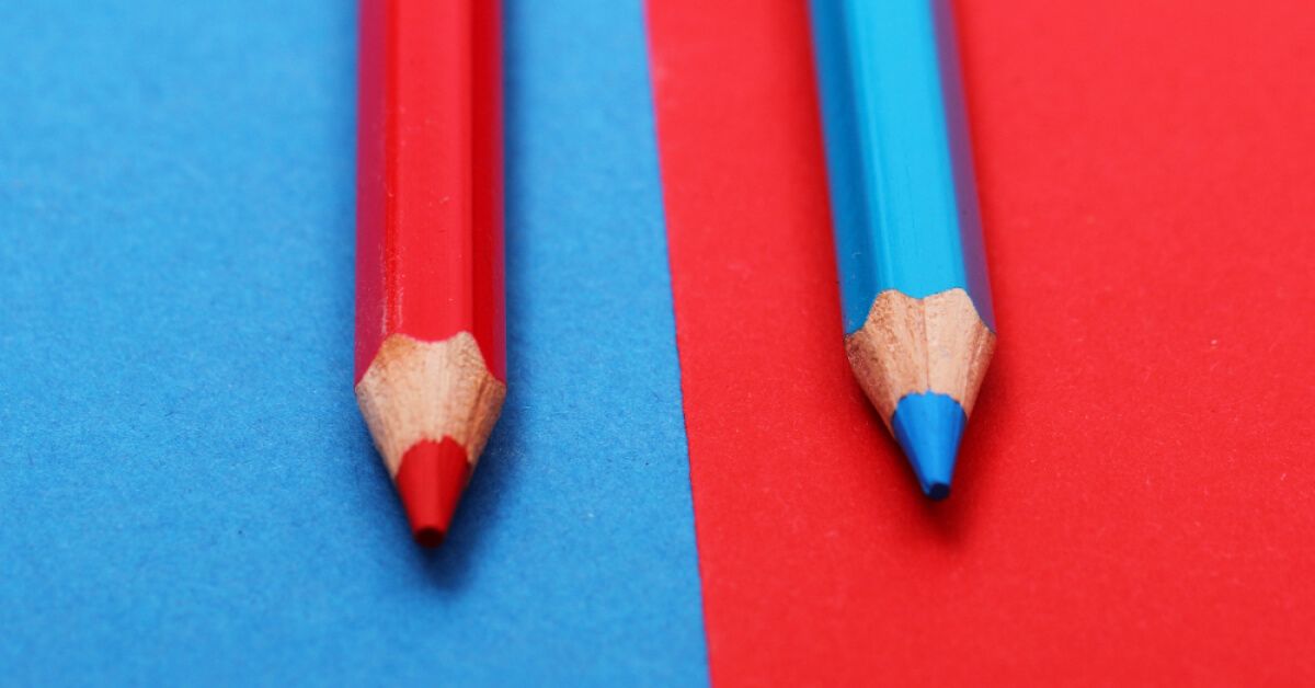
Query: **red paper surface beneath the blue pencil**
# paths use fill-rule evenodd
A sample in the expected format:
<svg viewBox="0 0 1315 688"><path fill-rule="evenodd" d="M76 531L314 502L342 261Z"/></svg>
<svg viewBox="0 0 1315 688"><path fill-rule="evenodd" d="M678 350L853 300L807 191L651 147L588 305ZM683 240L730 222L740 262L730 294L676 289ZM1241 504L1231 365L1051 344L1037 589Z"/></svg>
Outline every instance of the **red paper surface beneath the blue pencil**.
<svg viewBox="0 0 1315 688"><path fill-rule="evenodd" d="M842 351L805 5L650 1L714 680L1315 681L1315 4L957 4L999 347L944 504Z"/></svg>

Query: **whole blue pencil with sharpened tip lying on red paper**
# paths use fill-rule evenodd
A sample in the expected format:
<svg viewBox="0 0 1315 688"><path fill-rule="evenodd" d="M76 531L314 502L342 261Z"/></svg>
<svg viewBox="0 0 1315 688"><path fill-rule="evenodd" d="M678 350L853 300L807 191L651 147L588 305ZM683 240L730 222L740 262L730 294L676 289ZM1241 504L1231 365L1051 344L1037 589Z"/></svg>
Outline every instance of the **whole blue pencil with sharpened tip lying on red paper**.
<svg viewBox="0 0 1315 688"><path fill-rule="evenodd" d="M948 0L811 0L855 376L923 492L949 495L995 346Z"/></svg>

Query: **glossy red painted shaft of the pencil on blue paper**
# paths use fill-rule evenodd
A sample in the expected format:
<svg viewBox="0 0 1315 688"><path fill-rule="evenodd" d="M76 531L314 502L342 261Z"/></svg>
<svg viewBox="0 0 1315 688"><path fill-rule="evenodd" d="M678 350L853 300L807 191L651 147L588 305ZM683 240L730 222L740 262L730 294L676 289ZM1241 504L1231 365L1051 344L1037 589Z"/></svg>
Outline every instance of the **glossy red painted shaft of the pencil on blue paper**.
<svg viewBox="0 0 1315 688"><path fill-rule="evenodd" d="M505 379L498 3L360 8L356 380L388 335L459 332Z"/></svg>

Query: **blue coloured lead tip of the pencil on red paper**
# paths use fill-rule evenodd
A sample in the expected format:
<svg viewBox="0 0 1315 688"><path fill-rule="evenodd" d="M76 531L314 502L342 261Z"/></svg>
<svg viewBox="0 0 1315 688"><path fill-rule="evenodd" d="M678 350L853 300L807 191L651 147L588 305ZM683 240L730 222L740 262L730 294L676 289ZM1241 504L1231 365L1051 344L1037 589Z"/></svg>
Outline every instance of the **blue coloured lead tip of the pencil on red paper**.
<svg viewBox="0 0 1315 688"><path fill-rule="evenodd" d="M967 422L957 401L934 392L901 399L890 418L890 428L918 474L923 493L934 500L949 496L949 479Z"/></svg>

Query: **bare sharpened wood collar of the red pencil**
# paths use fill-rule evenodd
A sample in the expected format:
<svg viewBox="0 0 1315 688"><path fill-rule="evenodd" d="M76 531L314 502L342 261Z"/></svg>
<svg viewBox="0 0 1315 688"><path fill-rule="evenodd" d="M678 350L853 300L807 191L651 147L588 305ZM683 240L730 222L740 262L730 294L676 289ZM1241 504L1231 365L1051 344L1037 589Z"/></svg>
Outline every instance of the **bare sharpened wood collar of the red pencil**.
<svg viewBox="0 0 1315 688"><path fill-rule="evenodd" d="M393 476L406 450L426 439L451 438L473 468L505 397L506 384L489 372L467 332L441 342L393 334L356 384L360 412Z"/></svg>

